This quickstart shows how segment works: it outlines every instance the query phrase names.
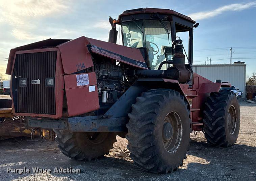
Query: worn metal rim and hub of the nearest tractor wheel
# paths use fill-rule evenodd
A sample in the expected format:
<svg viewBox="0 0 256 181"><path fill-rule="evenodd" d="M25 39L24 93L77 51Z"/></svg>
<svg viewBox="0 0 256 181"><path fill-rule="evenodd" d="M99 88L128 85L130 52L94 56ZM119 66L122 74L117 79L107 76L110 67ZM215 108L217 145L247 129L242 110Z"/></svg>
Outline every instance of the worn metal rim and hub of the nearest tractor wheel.
<svg viewBox="0 0 256 181"><path fill-rule="evenodd" d="M164 119L162 128L162 141L164 148L174 153L180 146L182 138L182 124L177 112L170 112Z"/></svg>

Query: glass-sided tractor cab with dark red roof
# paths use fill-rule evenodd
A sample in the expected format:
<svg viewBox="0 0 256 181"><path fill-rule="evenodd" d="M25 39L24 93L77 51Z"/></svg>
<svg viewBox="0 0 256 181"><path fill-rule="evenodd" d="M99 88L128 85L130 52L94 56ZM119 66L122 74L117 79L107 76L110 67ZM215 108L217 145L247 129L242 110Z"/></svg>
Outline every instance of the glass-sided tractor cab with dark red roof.
<svg viewBox="0 0 256 181"><path fill-rule="evenodd" d="M139 8L124 11L113 23L122 26L123 45L139 49L152 70L166 70L172 66L174 44L182 44L176 41L180 39L176 33L188 32L188 53L185 54L186 66L191 69L196 23L191 18L169 9ZM169 63L162 63L167 61Z"/></svg>

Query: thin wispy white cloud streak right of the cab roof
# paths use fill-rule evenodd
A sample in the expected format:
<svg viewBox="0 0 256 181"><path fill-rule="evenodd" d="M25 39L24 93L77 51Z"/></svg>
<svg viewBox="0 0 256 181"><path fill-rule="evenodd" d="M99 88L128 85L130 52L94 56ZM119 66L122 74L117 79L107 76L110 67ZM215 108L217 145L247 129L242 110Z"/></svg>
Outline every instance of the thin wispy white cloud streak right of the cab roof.
<svg viewBox="0 0 256 181"><path fill-rule="evenodd" d="M189 14L188 16L191 17L193 20L203 20L203 19L215 17L226 11L241 11L241 10L249 9L252 7L256 7L256 2L249 2L246 4L242 4L242 3L230 4L230 5L219 7L211 11L201 11L201 12L192 13L192 14Z"/></svg>

